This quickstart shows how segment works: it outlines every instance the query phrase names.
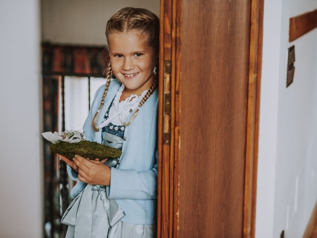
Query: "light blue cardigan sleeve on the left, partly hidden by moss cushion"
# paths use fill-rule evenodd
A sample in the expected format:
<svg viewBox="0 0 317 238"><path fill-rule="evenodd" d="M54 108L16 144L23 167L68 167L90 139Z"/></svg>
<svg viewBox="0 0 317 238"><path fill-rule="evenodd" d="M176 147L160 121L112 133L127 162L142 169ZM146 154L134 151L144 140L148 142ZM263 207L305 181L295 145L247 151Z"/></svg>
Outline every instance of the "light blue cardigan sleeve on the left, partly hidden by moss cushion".
<svg viewBox="0 0 317 238"><path fill-rule="evenodd" d="M88 116L84 122L84 125L83 125L83 135L85 136L85 139L86 140L89 140L89 141L92 141L93 140L93 135L92 135L92 121L93 121L93 118L95 116L95 113L96 113L96 109L98 108L99 106L99 100L96 100L97 98L97 95L100 94L101 92L100 91L103 91L105 90L105 85L102 85L100 86L96 93L95 93L95 96L94 96L94 100L93 100L93 103L90 107L90 110L89 110L89 113L88 113ZM78 173L76 171L74 171L69 165L67 165L67 173L68 173L68 176L70 179L74 180L74 181L78 181Z"/></svg>

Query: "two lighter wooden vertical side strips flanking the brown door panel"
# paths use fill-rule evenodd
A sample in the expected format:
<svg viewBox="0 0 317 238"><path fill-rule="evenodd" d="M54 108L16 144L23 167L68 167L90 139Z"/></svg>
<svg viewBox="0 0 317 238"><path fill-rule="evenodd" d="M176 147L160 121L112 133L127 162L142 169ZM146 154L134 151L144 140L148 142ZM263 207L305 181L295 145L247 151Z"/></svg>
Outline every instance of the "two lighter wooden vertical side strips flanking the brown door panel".
<svg viewBox="0 0 317 238"><path fill-rule="evenodd" d="M179 230L181 6L182 0L160 0L158 238L178 238ZM263 11L264 0L251 0L244 238L255 237ZM169 103L169 112L166 103Z"/></svg>

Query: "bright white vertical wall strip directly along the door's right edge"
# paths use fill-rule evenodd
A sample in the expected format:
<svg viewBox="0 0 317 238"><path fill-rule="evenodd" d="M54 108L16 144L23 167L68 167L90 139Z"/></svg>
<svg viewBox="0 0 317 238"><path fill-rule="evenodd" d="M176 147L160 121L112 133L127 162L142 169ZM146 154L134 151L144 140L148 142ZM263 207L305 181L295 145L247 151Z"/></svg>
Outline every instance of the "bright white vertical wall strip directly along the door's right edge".
<svg viewBox="0 0 317 238"><path fill-rule="evenodd" d="M281 8L282 0L264 0L256 238L273 234Z"/></svg>

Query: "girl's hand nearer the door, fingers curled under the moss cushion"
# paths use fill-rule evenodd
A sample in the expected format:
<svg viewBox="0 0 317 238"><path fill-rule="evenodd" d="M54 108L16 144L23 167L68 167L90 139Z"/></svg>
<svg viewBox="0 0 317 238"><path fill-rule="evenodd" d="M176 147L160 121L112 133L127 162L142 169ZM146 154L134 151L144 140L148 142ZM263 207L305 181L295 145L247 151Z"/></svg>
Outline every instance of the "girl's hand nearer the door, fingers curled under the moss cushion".
<svg viewBox="0 0 317 238"><path fill-rule="evenodd" d="M104 165L105 161L94 161L75 155L74 164L78 167L78 179L89 184L110 186L111 170Z"/></svg>

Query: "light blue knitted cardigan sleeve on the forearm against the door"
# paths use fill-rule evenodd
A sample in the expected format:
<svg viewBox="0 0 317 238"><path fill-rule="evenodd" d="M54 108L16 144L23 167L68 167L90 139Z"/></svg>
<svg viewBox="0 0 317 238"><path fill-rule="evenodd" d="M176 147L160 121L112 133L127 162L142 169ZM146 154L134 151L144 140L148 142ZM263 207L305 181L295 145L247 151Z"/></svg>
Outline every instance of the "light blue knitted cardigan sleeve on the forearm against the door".
<svg viewBox="0 0 317 238"><path fill-rule="evenodd" d="M111 168L110 186L107 186L109 199L157 198L158 150L155 150L154 167L147 171L120 170Z"/></svg>

